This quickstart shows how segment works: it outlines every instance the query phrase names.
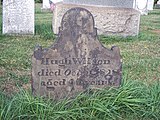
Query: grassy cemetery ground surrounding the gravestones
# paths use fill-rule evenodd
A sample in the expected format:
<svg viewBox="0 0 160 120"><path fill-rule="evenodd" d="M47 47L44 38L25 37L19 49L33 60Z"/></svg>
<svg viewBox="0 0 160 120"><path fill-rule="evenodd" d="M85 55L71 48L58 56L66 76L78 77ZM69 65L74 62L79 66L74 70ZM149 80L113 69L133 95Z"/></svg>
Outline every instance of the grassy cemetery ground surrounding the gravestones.
<svg viewBox="0 0 160 120"><path fill-rule="evenodd" d="M87 91L54 101L33 97L31 56L36 44L49 47L51 13L36 5L34 36L2 35L0 11L0 120L159 120L160 119L160 10L141 17L138 37L99 36L104 46L116 45L123 59L119 88Z"/></svg>

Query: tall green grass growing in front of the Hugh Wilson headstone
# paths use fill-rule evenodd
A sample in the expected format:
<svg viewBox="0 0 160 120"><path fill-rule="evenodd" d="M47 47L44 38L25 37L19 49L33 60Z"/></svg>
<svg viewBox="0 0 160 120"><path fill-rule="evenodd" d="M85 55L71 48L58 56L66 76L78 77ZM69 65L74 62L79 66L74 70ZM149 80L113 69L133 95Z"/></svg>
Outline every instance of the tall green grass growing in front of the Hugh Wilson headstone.
<svg viewBox="0 0 160 120"><path fill-rule="evenodd" d="M7 98L1 94L2 120L159 120L160 83L146 85L125 81L119 89L87 91L61 101L35 98L20 91Z"/></svg>

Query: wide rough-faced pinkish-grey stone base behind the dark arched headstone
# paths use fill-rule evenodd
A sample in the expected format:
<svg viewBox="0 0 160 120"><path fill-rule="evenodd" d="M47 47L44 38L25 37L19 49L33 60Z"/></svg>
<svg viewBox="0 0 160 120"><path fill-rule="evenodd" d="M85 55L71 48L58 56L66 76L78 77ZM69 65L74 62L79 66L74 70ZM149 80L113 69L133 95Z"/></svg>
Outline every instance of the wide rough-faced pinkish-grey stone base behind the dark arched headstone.
<svg viewBox="0 0 160 120"><path fill-rule="evenodd" d="M73 7L89 10L95 19L99 35L136 36L139 33L140 12L132 8L56 4L53 12L53 32L58 34L63 14Z"/></svg>

